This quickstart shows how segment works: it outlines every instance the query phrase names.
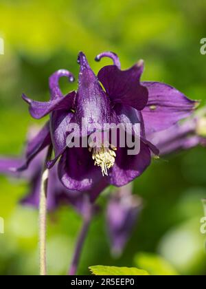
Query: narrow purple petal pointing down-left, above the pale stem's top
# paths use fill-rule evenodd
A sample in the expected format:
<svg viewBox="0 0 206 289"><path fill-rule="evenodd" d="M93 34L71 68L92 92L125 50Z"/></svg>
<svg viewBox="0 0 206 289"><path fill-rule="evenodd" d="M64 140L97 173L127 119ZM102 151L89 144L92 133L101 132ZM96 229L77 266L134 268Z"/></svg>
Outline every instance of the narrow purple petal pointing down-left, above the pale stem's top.
<svg viewBox="0 0 206 289"><path fill-rule="evenodd" d="M43 151L45 147L52 144L50 131L49 131L49 122L39 131L39 133L27 142L27 149L25 153L25 162L24 164L19 167L18 171L23 171L27 169L30 162L34 159L34 157Z"/></svg>

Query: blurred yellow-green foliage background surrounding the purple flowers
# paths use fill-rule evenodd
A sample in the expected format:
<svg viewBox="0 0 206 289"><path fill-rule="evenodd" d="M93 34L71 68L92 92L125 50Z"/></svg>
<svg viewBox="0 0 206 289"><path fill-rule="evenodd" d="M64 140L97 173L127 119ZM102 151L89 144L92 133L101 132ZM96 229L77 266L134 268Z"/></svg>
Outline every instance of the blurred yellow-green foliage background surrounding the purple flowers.
<svg viewBox="0 0 206 289"><path fill-rule="evenodd" d="M93 58L104 50L116 52L122 67L139 58L146 63L143 79L174 85L193 99L206 101L206 55L200 40L206 37L206 1L179 0L1 0L0 37L0 155L18 155L30 125L21 93L36 100L49 98L48 77L65 68L78 76L77 54L87 54L98 72L111 63ZM76 87L67 79L62 90ZM113 259L102 213L95 217L84 246L78 274L92 265L137 266L139 252L162 255L179 274L206 272L205 236L201 198L206 197L206 151L198 147L167 160L155 160L135 180L134 193L144 200L144 210L124 254ZM28 191L25 182L0 177L0 274L38 274L38 213L21 207ZM71 261L80 216L64 207L49 217L49 274L65 274Z"/></svg>

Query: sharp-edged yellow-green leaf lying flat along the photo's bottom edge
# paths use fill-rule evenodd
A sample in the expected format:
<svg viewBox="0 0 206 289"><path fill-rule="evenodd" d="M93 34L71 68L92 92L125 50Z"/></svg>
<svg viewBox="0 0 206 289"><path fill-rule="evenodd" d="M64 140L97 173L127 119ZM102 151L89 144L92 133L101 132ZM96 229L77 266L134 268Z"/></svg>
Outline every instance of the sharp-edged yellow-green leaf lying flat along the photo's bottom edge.
<svg viewBox="0 0 206 289"><path fill-rule="evenodd" d="M128 267L114 267L114 266L91 266L89 270L93 275L149 275L145 270Z"/></svg>

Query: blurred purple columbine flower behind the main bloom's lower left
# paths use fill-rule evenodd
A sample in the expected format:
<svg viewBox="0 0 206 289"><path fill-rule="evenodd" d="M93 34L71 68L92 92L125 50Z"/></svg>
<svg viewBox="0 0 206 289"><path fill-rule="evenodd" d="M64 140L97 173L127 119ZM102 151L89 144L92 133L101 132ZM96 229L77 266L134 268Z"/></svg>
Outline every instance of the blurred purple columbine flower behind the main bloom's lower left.
<svg viewBox="0 0 206 289"><path fill-rule="evenodd" d="M32 136L34 130L32 129ZM30 131L30 136L31 136ZM36 137L34 137L36 138ZM33 138L29 138L27 142L27 149L30 143L33 143ZM40 189L41 189L41 175L43 169L43 160L45 159L45 149L41 151L36 157L32 159L28 168L23 171L18 171L19 167L24 164L24 158L0 158L0 174L10 175L13 178L27 180L30 184L29 193L21 200L21 204L38 208ZM104 185L98 184L92 191L81 193L79 191L69 191L62 185L58 178L57 166L49 170L48 189L47 189L47 207L49 211L54 211L61 204L68 204L73 206L81 215L87 214L90 197L95 199L95 196L105 188ZM95 210L95 206L93 206Z"/></svg>

